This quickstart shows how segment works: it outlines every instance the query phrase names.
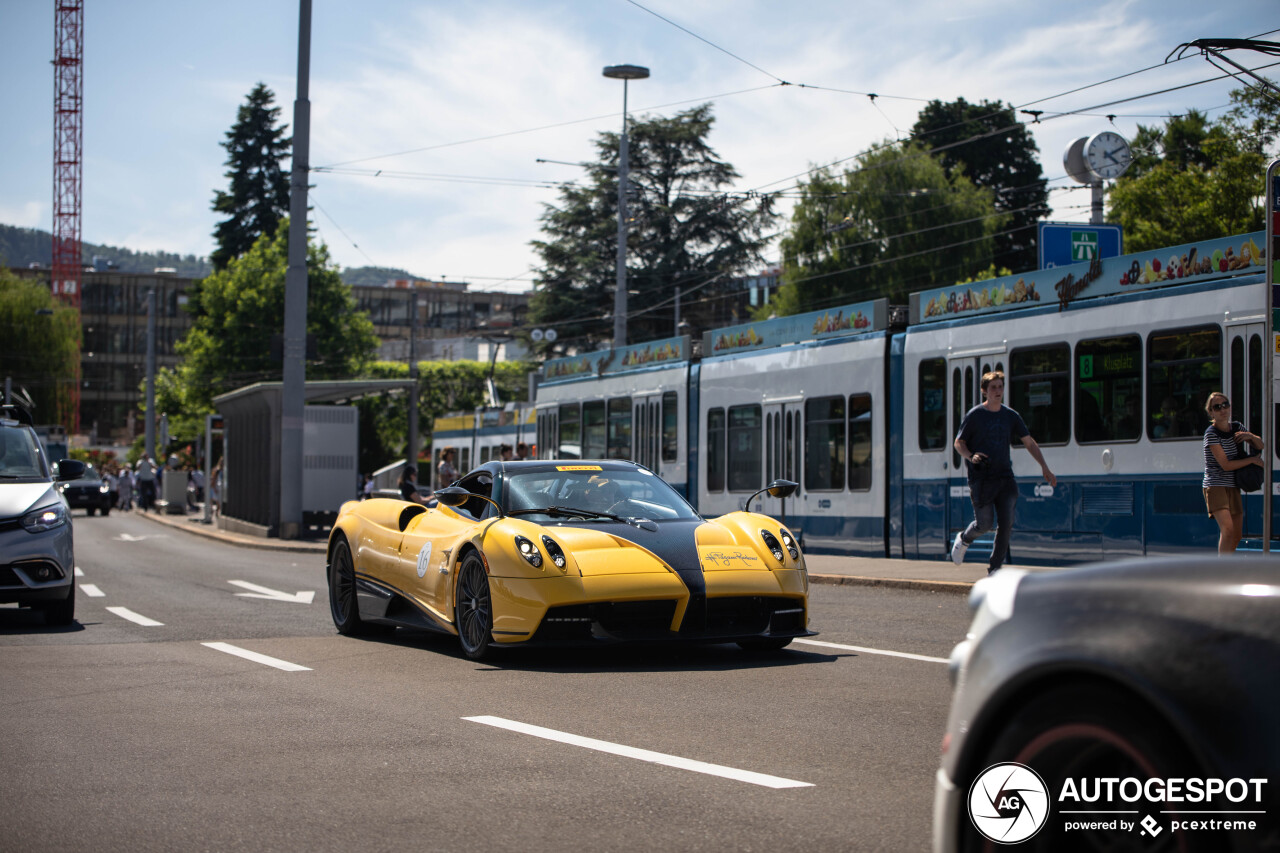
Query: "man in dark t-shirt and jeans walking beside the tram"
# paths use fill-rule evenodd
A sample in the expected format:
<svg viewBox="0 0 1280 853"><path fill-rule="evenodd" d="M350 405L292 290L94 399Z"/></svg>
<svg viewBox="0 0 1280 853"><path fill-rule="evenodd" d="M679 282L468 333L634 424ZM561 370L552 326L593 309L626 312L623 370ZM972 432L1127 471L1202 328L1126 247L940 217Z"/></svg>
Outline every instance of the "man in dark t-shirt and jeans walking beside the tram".
<svg viewBox="0 0 1280 853"><path fill-rule="evenodd" d="M956 534L951 543L951 561L957 566L974 539L996 526L996 546L991 549L987 574L1000 569L1009 553L1014 533L1014 506L1018 503L1018 480L1009 447L1014 438L1039 462L1041 473L1051 487L1057 478L1048 470L1039 444L1032 438L1021 415L1004 405L1005 374L992 370L982 377L983 402L969 410L960 423L955 448L969 467L969 500L973 521Z"/></svg>

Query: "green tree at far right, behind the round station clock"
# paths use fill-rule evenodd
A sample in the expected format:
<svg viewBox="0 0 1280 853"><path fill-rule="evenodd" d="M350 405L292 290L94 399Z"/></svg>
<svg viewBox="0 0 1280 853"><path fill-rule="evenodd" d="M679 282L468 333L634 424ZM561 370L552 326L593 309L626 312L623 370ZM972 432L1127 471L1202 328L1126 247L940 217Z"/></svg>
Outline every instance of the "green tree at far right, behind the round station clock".
<svg viewBox="0 0 1280 853"><path fill-rule="evenodd" d="M1210 122L1197 110L1164 127L1139 126L1134 165L1111 188L1111 222L1124 228L1125 251L1261 231L1266 149L1275 140L1275 108L1235 91L1236 108Z"/></svg>

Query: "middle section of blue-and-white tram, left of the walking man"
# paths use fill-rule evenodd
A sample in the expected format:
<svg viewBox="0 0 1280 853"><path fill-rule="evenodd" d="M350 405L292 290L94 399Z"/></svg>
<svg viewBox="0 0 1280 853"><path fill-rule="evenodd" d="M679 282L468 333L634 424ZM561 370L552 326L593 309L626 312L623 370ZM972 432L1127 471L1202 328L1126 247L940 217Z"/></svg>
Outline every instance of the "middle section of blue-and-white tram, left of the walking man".
<svg viewBox="0 0 1280 853"><path fill-rule="evenodd" d="M704 515L744 507L765 483L800 484L759 510L814 551L883 555L890 398L888 302L708 332L698 365Z"/></svg>

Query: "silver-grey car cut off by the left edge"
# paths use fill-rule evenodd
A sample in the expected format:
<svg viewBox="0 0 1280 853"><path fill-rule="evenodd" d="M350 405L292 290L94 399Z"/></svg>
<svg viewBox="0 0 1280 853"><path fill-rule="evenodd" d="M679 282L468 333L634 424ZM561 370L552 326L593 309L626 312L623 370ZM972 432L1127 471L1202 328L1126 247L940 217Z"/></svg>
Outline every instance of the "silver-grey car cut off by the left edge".
<svg viewBox="0 0 1280 853"><path fill-rule="evenodd" d="M36 432L0 415L0 603L44 610L50 625L76 617L70 511L55 479L83 473L67 459L51 469Z"/></svg>

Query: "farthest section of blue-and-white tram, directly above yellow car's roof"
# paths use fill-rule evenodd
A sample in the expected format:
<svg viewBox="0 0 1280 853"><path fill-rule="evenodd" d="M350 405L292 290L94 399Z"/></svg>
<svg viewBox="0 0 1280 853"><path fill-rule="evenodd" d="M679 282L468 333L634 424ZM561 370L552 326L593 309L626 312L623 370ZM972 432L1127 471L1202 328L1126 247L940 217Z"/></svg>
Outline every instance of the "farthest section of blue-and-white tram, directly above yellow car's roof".
<svg viewBox="0 0 1280 853"><path fill-rule="evenodd" d="M689 494L689 337L549 360L539 459L630 459Z"/></svg>

